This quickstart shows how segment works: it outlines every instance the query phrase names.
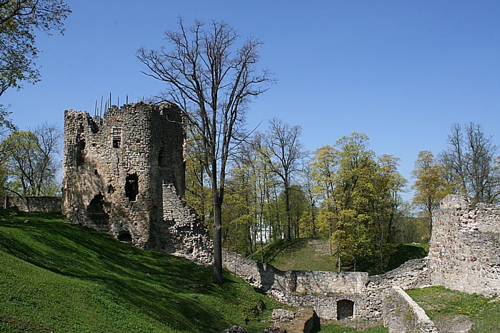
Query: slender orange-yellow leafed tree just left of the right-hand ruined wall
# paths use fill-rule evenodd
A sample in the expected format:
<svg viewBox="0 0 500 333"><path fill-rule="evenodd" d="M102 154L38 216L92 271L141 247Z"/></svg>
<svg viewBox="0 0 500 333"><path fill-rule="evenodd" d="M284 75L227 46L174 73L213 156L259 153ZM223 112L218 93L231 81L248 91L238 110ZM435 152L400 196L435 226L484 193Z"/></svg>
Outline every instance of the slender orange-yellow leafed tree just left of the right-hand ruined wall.
<svg viewBox="0 0 500 333"><path fill-rule="evenodd" d="M439 208L439 202L446 195L446 183L441 177L441 165L436 162L430 150L421 150L411 172L415 178L413 203L421 208L429 220L429 233L432 232L434 210Z"/></svg>

